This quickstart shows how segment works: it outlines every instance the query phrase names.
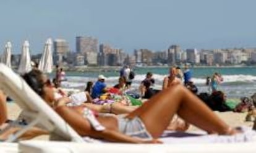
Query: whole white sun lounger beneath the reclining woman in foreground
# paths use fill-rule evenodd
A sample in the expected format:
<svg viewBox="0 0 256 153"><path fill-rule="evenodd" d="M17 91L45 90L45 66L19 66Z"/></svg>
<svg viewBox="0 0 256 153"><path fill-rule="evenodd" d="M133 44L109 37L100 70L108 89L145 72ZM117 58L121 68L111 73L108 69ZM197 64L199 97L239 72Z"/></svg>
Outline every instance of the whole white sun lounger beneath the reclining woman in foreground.
<svg viewBox="0 0 256 153"><path fill-rule="evenodd" d="M247 143L223 143L223 141L216 141L216 143L202 142L154 145L84 143L83 138L67 125L40 96L30 89L22 78L2 64L0 64L0 80L4 80L4 83L0 85L0 89L4 89L22 107L26 119L31 118L26 128L23 128L23 130L7 141L14 141L19 134L33 125L41 125L46 130L58 134L59 137L73 141L21 141L19 143L20 152L255 152L255 140ZM196 139L193 139L193 141L196 141Z"/></svg>

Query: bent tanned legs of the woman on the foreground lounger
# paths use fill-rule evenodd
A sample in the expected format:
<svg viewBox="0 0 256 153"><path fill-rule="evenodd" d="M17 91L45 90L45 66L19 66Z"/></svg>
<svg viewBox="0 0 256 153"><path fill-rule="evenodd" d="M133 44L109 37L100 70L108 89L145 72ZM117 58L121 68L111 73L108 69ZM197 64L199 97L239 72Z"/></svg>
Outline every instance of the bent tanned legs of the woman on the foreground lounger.
<svg viewBox="0 0 256 153"><path fill-rule="evenodd" d="M228 134L231 130L207 105L182 85L164 89L127 117L139 116L153 138L159 138L176 113L186 122L208 132Z"/></svg>

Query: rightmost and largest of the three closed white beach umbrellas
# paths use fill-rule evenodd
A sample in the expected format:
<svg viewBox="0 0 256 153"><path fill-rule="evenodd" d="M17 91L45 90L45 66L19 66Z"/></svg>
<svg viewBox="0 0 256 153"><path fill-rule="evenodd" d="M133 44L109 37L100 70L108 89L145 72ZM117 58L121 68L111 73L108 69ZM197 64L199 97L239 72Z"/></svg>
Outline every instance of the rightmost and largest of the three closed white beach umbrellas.
<svg viewBox="0 0 256 153"><path fill-rule="evenodd" d="M45 73L51 73L53 71L53 52L51 51L53 42L51 38L48 38L43 49L38 69Z"/></svg>

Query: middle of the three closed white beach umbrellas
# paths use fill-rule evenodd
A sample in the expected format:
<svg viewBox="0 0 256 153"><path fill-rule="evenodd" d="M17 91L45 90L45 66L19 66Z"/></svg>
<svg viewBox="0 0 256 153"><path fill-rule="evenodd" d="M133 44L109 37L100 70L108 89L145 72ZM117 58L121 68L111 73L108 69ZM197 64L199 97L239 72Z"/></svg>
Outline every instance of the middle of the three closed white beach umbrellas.
<svg viewBox="0 0 256 153"><path fill-rule="evenodd" d="M22 54L20 57L20 65L18 68L18 72L20 74L30 72L32 70L31 67L31 59L30 59L30 53L29 53L29 43L28 41L24 41L22 46Z"/></svg>

